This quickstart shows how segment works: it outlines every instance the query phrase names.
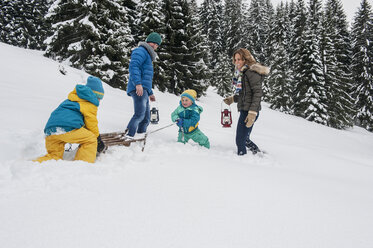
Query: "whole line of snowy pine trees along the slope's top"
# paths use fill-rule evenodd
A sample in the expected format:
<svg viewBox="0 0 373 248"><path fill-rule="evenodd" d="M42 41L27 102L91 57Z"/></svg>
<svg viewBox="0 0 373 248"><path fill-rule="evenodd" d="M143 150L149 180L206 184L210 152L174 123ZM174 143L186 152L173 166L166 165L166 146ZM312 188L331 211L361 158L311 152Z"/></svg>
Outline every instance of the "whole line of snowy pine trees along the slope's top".
<svg viewBox="0 0 373 248"><path fill-rule="evenodd" d="M0 41L38 49L126 89L131 50L163 37L154 86L180 94L209 86L232 94L233 51L271 68L264 100L338 129L373 131L373 13L362 0L351 24L340 0L3 0Z"/></svg>

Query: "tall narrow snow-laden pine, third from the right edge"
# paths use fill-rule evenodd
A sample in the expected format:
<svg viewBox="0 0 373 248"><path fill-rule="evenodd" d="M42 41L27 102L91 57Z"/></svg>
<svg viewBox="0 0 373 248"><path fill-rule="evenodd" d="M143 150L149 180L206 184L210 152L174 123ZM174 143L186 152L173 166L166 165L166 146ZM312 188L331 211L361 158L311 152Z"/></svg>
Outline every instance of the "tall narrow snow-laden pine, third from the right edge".
<svg viewBox="0 0 373 248"><path fill-rule="evenodd" d="M321 15L319 0L310 0L299 48L302 71L297 75L300 81L296 82L294 112L309 121L327 125L329 116L320 48Z"/></svg>

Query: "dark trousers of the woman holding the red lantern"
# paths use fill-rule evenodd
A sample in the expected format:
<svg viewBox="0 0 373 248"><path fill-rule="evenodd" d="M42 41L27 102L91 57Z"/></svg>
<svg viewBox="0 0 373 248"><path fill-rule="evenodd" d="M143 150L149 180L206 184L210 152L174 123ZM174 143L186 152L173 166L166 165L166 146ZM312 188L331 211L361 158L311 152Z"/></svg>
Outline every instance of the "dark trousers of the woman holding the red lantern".
<svg viewBox="0 0 373 248"><path fill-rule="evenodd" d="M250 140L250 134L251 131L253 130L254 124L251 127L246 127L245 119L247 117L247 114L249 111L240 111L240 117L238 118L238 123L237 123L237 130L236 130L236 145L237 145L237 154L238 155L244 155L247 153L246 146L253 152L256 153L255 150L259 150L257 145L255 145L254 142ZM256 116L255 121L259 117L259 112L258 115ZM255 123L255 122L254 122Z"/></svg>

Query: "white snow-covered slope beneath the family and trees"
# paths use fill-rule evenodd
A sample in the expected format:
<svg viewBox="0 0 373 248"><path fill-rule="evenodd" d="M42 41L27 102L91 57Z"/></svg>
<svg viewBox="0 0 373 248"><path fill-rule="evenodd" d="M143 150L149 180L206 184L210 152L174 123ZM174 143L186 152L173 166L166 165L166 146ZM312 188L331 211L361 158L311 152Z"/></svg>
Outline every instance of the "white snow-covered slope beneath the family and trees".
<svg viewBox="0 0 373 248"><path fill-rule="evenodd" d="M252 138L264 156L238 157L213 89L197 101L211 149L176 142L172 126L145 147L111 147L95 164L45 153L50 113L88 75L0 43L0 243L6 248L373 247L373 134L336 130L263 104ZM132 100L104 85L99 128L121 131ZM160 122L179 97L154 90ZM237 112L233 109L233 126Z"/></svg>

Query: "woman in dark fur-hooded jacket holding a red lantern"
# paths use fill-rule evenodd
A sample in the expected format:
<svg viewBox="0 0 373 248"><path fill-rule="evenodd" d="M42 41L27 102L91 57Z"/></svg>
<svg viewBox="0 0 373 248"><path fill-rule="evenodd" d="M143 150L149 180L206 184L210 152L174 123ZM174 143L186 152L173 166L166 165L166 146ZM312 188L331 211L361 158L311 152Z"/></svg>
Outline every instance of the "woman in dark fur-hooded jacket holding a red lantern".
<svg viewBox="0 0 373 248"><path fill-rule="evenodd" d="M269 74L269 68L256 62L251 53L240 48L233 53L235 72L233 86L235 95L224 99L228 105L237 103L240 117L236 130L237 154L246 154L246 147L253 153L259 152L258 146L250 140L254 122L259 117L260 102L263 96L262 81Z"/></svg>

